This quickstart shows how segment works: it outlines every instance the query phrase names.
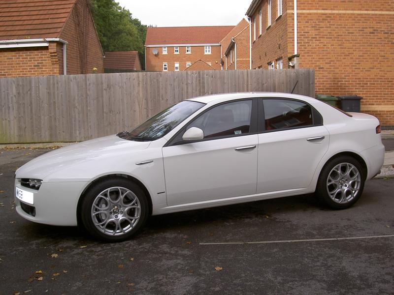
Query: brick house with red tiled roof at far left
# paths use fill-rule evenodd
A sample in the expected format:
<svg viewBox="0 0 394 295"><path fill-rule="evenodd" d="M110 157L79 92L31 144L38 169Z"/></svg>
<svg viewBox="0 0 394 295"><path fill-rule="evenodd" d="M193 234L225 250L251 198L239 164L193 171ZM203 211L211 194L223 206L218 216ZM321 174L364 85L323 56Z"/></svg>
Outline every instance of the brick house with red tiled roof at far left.
<svg viewBox="0 0 394 295"><path fill-rule="evenodd" d="M103 72L87 0L1 0L0 77Z"/></svg>

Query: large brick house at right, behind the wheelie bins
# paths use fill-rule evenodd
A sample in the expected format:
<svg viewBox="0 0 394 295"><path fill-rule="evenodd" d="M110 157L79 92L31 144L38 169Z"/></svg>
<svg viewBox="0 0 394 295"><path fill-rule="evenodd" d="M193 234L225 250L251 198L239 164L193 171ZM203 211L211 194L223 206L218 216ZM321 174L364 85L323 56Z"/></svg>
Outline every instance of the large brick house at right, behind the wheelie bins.
<svg viewBox="0 0 394 295"><path fill-rule="evenodd" d="M394 126L394 1L253 0L246 15L252 68L314 68L316 93L360 95Z"/></svg>

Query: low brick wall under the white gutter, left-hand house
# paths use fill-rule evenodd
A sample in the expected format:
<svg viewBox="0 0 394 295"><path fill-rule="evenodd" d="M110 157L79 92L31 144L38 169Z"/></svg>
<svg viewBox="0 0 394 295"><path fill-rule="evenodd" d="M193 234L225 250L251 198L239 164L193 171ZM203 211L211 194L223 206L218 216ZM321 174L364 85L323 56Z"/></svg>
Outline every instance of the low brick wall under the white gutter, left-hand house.
<svg viewBox="0 0 394 295"><path fill-rule="evenodd" d="M0 49L0 77L59 75L56 43L49 48L52 55L46 46Z"/></svg>

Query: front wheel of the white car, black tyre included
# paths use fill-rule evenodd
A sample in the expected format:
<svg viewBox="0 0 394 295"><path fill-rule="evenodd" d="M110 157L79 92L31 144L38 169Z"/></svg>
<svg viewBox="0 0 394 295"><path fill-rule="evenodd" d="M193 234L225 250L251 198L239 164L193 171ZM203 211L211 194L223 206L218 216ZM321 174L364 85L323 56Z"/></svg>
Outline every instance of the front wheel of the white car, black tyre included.
<svg viewBox="0 0 394 295"><path fill-rule="evenodd" d="M111 190L108 191L108 189ZM122 207L123 203L121 204L119 203L119 201L118 204L111 203L113 201L112 199L117 197L116 196L117 190L119 191L118 192L119 200L122 199L122 195L126 196L125 192L127 192L127 197L123 197L123 200L126 200L127 198L126 201L131 202L130 200L131 198L133 198L132 200L135 200L135 198L137 199L137 201L132 201L127 206L132 206L135 203L138 205L139 208L129 208L127 210L128 212L126 212L126 209L125 212L123 212L122 209L125 208ZM104 191L107 192L104 193ZM105 198L99 197L100 194L102 194ZM107 201L108 196L110 196L109 197L111 199L110 202ZM93 207L93 203L95 201L103 203L102 204L103 207L105 207L105 204L108 204L108 209L105 210L111 210L111 212L110 213L105 212L101 214L97 213L96 215L93 215L94 210L99 210L101 212L101 209L99 209L98 207ZM86 231L91 236L108 242L121 242L131 238L131 236L134 236L142 228L149 214L148 201L143 190L135 183L131 182L128 179L123 179L123 178L108 178L94 184L83 196L83 200L80 208L81 208L80 216L81 216L82 224L86 229ZM128 214L129 211L139 217L138 218L135 216L130 217ZM101 216L105 216L105 218L104 217L101 218ZM106 227L99 229L98 227L102 227L102 226L101 225L96 226L93 220L94 218L97 218L96 221L98 219L99 221L101 220L108 221L109 219L113 221L110 221L108 223L104 222L104 224L107 224ZM134 220L136 220L135 224L132 224L131 220L133 222ZM129 226L127 226L128 223ZM123 228L124 232L119 232L121 231L120 229L121 226L122 228L123 226L125 226L125 228ZM109 233L109 229L111 228L114 228L112 230L112 233L115 233L115 235Z"/></svg>

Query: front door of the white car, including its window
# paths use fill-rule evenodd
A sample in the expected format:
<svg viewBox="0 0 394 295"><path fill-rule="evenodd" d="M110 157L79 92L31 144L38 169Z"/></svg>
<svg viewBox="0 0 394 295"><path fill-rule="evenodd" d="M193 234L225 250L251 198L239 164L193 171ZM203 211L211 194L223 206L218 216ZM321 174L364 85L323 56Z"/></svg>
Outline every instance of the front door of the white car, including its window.
<svg viewBox="0 0 394 295"><path fill-rule="evenodd" d="M191 127L202 129L204 139L182 141ZM163 148L167 205L255 194L257 144L257 101L232 101L203 112Z"/></svg>

